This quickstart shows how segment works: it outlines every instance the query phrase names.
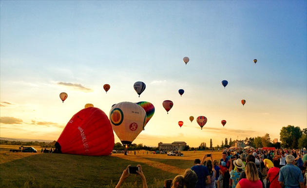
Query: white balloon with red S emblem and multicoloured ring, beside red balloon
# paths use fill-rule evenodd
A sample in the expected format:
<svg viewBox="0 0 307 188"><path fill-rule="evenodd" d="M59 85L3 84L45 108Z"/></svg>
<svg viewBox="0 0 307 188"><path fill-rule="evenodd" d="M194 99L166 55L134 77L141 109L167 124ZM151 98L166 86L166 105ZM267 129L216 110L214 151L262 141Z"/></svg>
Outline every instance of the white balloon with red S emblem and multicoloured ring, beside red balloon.
<svg viewBox="0 0 307 188"><path fill-rule="evenodd" d="M142 132L147 120L145 110L133 102L115 104L110 110L109 117L117 137L127 146Z"/></svg>

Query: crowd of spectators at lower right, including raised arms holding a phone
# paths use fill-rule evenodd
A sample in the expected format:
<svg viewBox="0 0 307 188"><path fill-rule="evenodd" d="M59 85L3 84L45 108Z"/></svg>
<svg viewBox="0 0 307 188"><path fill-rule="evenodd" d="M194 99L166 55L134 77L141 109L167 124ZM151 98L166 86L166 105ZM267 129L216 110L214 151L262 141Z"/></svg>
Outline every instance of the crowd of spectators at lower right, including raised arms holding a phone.
<svg viewBox="0 0 307 188"><path fill-rule="evenodd" d="M209 158L206 160L207 158ZM116 188L130 173L123 171ZM136 173L147 188L141 165ZM213 160L205 154L183 175L164 181L163 188L307 188L307 150L229 150Z"/></svg>

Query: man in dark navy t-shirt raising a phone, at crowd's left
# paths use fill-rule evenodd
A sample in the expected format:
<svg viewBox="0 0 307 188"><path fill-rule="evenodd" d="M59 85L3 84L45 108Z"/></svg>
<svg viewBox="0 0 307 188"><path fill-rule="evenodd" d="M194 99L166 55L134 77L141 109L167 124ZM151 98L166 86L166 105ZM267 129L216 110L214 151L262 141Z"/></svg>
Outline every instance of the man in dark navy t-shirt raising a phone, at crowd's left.
<svg viewBox="0 0 307 188"><path fill-rule="evenodd" d="M206 154L204 155L202 159L202 163L204 159L206 158ZM208 181L211 182L209 170L206 166L201 165L200 159L194 160L194 166L191 168L197 175L197 184L196 188L205 188L206 187L206 178L208 178Z"/></svg>

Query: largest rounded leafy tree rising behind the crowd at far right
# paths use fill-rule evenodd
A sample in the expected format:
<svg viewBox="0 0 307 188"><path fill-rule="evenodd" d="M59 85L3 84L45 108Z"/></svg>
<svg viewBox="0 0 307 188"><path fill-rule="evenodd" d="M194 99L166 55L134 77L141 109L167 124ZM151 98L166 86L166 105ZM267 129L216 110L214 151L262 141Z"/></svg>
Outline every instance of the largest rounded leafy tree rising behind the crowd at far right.
<svg viewBox="0 0 307 188"><path fill-rule="evenodd" d="M298 140L302 137L303 131L300 127L288 125L287 127L283 127L279 134L283 147L297 149Z"/></svg>

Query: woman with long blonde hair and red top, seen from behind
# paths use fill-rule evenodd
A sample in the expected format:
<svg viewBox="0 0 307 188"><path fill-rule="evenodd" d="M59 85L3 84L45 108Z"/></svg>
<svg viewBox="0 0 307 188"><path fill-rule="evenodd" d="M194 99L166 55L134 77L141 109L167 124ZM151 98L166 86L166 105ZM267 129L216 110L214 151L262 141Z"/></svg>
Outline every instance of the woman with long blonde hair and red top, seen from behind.
<svg viewBox="0 0 307 188"><path fill-rule="evenodd" d="M262 188L262 183L259 180L257 167L255 163L248 162L245 165L246 178L242 178L236 185L236 188ZM241 173L242 174L242 173Z"/></svg>

